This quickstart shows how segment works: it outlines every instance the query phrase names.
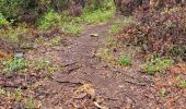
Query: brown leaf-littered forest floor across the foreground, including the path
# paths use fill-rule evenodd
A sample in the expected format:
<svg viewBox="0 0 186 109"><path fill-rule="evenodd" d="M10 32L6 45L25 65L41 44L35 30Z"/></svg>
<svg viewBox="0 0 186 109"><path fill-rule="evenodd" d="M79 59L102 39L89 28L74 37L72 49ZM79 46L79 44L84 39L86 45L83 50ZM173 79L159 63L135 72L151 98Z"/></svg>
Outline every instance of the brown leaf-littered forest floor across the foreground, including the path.
<svg viewBox="0 0 186 109"><path fill-rule="evenodd" d="M123 19L123 17L119 17ZM22 96L32 95L27 105L36 104L44 109L161 109L183 108L186 90L177 87L178 76L170 73L148 75L140 70L140 56L132 47L121 47L119 43L107 46L107 39L114 36L107 33L116 17L101 25L86 26L84 32L74 37L65 37L61 44L51 47L49 41L25 52L27 60L45 59L28 75L1 75L0 81L7 90L21 85ZM60 37L60 36L59 36ZM61 36L63 37L63 36ZM103 52L102 52L102 51ZM132 55L132 65L119 66L109 61L107 50L113 57ZM105 52L104 52L105 51ZM108 57L102 60L98 57ZM48 62L48 63L47 63ZM53 63L53 66L43 66ZM116 61L117 62L117 61ZM44 70L45 69L45 70ZM55 70L54 70L55 69ZM51 70L53 74L46 73ZM43 75L45 73L45 75ZM179 75L181 76L181 75ZM185 78L185 76L182 76ZM30 89L24 86L33 83ZM2 92L1 92L2 93ZM2 96L2 98L8 98ZM5 102L7 101L7 102ZM13 102L13 104L12 104ZM20 109L16 101L2 100L2 108Z"/></svg>

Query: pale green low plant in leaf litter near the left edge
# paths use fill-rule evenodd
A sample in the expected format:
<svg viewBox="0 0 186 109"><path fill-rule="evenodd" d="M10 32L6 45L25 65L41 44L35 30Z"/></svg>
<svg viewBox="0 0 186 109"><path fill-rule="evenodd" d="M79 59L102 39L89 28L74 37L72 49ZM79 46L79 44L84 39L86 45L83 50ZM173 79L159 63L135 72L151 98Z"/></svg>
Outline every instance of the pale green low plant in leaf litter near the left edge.
<svg viewBox="0 0 186 109"><path fill-rule="evenodd" d="M13 58L4 62L8 71L24 70L28 66L28 62L24 59Z"/></svg>

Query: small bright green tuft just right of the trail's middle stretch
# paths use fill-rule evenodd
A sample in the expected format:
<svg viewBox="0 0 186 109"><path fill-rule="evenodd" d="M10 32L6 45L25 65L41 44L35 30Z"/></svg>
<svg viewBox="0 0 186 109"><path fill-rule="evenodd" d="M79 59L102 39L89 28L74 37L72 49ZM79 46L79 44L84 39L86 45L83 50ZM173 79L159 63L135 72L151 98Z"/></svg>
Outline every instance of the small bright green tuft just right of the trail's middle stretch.
<svg viewBox="0 0 186 109"><path fill-rule="evenodd" d="M129 66L131 65L131 56L130 55L121 56L118 62L121 66Z"/></svg>

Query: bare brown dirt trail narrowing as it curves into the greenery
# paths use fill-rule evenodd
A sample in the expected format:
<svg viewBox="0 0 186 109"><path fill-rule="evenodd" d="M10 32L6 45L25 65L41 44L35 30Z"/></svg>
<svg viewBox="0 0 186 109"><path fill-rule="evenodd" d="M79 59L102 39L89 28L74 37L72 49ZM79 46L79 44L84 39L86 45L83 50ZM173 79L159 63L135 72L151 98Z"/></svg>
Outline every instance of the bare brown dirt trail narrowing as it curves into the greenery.
<svg viewBox="0 0 186 109"><path fill-rule="evenodd" d="M156 104L150 76L135 70L109 68L94 57L96 49L107 37L106 29L109 23L88 27L65 52L60 53L65 69L45 82L45 92L49 93L42 100L44 108L96 109L94 101L101 99L98 104L111 109L144 109ZM90 34L98 34L98 37L91 37ZM82 84L93 85L94 98L75 99L74 90Z"/></svg>

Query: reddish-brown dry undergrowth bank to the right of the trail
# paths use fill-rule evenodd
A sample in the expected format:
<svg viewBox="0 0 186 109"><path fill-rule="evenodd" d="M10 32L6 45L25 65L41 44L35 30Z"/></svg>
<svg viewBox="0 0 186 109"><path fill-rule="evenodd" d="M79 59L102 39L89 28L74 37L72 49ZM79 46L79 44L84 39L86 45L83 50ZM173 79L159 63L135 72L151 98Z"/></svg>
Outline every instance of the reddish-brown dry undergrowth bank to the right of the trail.
<svg viewBox="0 0 186 109"><path fill-rule="evenodd" d="M124 45L141 47L143 55L156 52L175 60L185 60L185 7L143 12L143 16L142 12L138 12L135 15L139 23L124 27L117 37Z"/></svg>

